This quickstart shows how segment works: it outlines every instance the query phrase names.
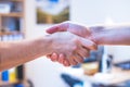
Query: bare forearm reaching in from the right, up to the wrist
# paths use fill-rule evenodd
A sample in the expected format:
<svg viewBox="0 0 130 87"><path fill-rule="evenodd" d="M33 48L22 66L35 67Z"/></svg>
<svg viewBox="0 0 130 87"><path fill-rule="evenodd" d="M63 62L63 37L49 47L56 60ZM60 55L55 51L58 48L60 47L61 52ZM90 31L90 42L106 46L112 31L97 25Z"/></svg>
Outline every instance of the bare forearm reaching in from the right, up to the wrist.
<svg viewBox="0 0 130 87"><path fill-rule="evenodd" d="M98 45L130 45L130 26L91 27L91 30Z"/></svg>

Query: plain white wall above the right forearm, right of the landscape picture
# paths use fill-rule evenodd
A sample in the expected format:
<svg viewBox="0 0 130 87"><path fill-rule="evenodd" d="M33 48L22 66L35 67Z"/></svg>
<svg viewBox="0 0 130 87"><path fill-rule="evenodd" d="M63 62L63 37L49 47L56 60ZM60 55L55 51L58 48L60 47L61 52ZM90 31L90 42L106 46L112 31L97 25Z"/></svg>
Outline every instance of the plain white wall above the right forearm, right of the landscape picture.
<svg viewBox="0 0 130 87"><path fill-rule="evenodd" d="M106 17L116 23L130 22L130 0L70 0L72 21L87 25L103 24Z"/></svg>

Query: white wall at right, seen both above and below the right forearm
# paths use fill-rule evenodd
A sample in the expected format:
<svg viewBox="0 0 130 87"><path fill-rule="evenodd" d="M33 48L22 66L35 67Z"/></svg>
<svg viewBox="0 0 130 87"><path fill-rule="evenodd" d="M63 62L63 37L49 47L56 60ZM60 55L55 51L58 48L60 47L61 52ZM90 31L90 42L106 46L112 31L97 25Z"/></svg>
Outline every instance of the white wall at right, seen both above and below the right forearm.
<svg viewBox="0 0 130 87"><path fill-rule="evenodd" d="M72 0L70 20L88 26L104 24L107 18L114 23L130 24L130 0ZM114 62L130 60L130 47L108 47Z"/></svg>

